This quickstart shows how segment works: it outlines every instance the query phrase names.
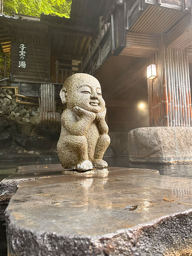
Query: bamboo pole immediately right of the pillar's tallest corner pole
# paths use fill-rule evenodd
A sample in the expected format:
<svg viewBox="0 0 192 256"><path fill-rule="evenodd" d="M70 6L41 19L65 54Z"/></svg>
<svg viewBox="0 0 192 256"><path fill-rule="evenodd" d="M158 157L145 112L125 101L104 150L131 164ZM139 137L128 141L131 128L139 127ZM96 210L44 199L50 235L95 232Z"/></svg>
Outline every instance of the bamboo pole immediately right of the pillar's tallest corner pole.
<svg viewBox="0 0 192 256"><path fill-rule="evenodd" d="M168 48L166 48L166 70L167 70L167 95L168 95L169 126L172 126L171 78L170 78L170 69L169 69L169 49Z"/></svg>

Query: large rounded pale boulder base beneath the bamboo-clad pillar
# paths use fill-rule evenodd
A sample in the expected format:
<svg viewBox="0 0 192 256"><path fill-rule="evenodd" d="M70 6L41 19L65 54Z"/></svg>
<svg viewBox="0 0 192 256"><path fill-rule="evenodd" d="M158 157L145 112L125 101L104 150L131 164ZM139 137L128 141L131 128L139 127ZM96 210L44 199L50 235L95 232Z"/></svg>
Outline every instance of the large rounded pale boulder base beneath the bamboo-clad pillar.
<svg viewBox="0 0 192 256"><path fill-rule="evenodd" d="M192 163L192 127L143 127L128 133L131 162Z"/></svg>

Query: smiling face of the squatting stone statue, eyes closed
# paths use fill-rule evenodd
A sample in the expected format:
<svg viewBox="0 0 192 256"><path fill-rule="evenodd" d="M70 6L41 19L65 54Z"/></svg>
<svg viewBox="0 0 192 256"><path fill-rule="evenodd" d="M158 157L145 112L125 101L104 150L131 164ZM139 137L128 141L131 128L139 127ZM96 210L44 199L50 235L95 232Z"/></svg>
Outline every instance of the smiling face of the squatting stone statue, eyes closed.
<svg viewBox="0 0 192 256"><path fill-rule="evenodd" d="M86 79L79 79L67 90L67 107L78 106L94 113L102 112L105 110L105 101L99 81L93 76L83 75L86 75Z"/></svg>

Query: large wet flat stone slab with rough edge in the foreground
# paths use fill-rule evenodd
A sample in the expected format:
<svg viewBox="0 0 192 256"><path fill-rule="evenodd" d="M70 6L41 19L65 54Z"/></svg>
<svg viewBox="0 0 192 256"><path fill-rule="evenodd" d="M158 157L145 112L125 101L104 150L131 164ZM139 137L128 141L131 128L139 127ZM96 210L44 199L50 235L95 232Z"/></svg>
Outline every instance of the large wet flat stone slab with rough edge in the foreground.
<svg viewBox="0 0 192 256"><path fill-rule="evenodd" d="M22 182L5 210L8 255L192 255L191 180L151 170Z"/></svg>

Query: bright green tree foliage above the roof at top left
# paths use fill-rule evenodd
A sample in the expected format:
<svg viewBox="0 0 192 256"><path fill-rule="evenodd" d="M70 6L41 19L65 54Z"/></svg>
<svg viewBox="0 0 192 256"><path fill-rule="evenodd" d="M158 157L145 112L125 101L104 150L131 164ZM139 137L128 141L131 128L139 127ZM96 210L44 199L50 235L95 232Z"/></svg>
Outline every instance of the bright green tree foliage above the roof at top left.
<svg viewBox="0 0 192 256"><path fill-rule="evenodd" d="M4 0L4 14L12 11L40 17L41 13L69 18L72 0Z"/></svg>

